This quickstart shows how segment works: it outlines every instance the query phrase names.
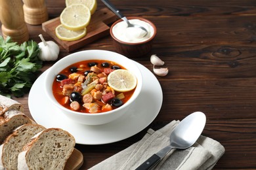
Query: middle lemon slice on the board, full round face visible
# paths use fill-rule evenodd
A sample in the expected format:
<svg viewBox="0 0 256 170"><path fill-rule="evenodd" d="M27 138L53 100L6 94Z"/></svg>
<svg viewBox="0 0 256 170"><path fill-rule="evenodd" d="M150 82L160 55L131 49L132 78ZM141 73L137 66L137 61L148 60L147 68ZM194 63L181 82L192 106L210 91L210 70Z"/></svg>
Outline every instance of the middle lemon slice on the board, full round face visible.
<svg viewBox="0 0 256 170"><path fill-rule="evenodd" d="M91 12L88 7L82 4L73 4L62 10L60 14L60 22L72 31L84 29L89 25L91 20Z"/></svg>

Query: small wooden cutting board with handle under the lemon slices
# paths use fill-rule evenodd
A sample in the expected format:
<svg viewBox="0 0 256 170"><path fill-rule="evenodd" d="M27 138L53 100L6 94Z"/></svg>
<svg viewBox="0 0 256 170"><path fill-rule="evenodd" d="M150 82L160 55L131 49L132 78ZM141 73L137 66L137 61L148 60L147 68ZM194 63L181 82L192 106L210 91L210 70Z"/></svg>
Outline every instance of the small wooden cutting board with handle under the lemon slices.
<svg viewBox="0 0 256 170"><path fill-rule="evenodd" d="M91 22L87 26L87 35L77 41L62 41L55 35L55 28L60 25L60 17L54 18L42 24L43 31L48 33L56 42L58 42L68 52L72 52L89 44L97 39L100 39L110 33L108 24L112 24L117 20L116 14L110 9L104 8L96 10L91 16Z"/></svg>

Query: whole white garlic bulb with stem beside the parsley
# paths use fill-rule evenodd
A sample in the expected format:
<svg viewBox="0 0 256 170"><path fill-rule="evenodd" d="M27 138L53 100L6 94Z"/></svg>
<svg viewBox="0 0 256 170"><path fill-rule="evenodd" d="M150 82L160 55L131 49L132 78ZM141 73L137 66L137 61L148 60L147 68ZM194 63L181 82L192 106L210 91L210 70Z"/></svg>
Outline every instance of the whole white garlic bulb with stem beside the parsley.
<svg viewBox="0 0 256 170"><path fill-rule="evenodd" d="M39 42L39 59L42 61L54 61L58 58L60 47L53 41L45 41L43 35L39 35L42 42Z"/></svg>

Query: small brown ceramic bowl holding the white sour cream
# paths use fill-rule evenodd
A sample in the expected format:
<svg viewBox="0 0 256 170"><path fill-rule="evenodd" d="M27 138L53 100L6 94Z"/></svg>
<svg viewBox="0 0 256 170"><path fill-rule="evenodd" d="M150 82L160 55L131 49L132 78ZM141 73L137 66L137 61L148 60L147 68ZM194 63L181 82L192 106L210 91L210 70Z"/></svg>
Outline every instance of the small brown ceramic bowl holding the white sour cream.
<svg viewBox="0 0 256 170"><path fill-rule="evenodd" d="M123 20L121 20L121 19L117 20L110 27L110 35L113 39L114 46L116 47L116 52L118 52L119 54L123 54L124 56L126 56L128 58L139 58L142 56L147 56L147 54L149 54L150 51L152 50L152 41L154 40L154 37L156 37L156 26L149 20L146 20L146 19L140 18L140 17L135 17L135 16L127 17L127 19L128 20L138 19L138 20L147 22L148 24L150 24L152 26L154 31L152 31L152 35L146 41L142 41L142 42L121 41L120 39L117 39L117 37L115 37L114 31L113 31L113 28L115 27L116 24L118 24L119 22L123 22Z"/></svg>

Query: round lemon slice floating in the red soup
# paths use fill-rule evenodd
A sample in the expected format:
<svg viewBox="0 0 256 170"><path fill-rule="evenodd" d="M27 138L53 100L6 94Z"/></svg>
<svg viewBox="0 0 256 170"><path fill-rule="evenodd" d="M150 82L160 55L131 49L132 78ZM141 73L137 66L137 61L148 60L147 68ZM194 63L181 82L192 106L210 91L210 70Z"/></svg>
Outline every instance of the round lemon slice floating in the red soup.
<svg viewBox="0 0 256 170"><path fill-rule="evenodd" d="M137 85L137 78L125 69L117 69L108 75L108 86L117 92L128 92Z"/></svg>

